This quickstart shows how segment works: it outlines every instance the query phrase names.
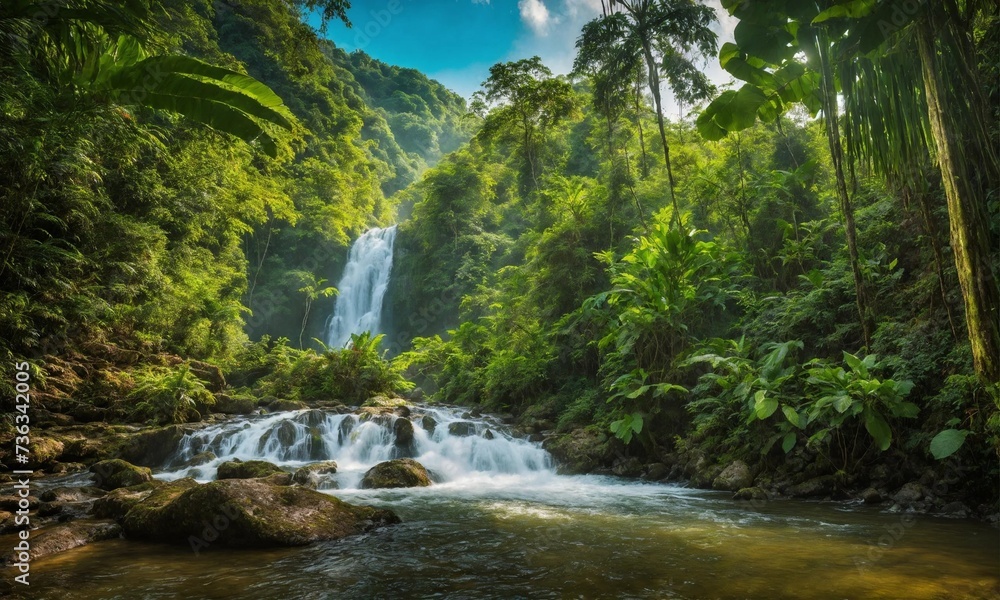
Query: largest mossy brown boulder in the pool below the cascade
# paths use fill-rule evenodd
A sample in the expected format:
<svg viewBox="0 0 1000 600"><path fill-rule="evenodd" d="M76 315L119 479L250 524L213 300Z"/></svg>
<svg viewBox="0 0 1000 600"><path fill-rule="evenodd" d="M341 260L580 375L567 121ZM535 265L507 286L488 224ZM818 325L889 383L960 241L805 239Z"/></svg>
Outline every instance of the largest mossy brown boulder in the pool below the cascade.
<svg viewBox="0 0 1000 600"><path fill-rule="evenodd" d="M399 522L385 509L354 506L302 487L227 479L195 485L172 498L154 492L122 520L126 537L262 548L339 539Z"/></svg>

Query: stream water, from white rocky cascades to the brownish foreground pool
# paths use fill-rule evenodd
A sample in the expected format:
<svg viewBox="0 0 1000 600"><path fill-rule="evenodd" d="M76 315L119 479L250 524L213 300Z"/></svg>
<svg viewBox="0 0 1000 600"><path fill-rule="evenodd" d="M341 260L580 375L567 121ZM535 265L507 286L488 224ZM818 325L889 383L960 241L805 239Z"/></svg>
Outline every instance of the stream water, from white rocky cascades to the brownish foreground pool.
<svg viewBox="0 0 1000 600"><path fill-rule="evenodd" d="M412 440L400 443L400 419L298 411L234 420L189 435L157 474L208 480L235 457L289 470L334 459L324 493L391 508L400 525L198 556L102 542L34 563L32 597L1000 598L1000 534L980 522L561 476L498 421L419 408ZM207 450L217 458L184 464ZM437 483L358 488L367 468L397 456L415 457Z"/></svg>

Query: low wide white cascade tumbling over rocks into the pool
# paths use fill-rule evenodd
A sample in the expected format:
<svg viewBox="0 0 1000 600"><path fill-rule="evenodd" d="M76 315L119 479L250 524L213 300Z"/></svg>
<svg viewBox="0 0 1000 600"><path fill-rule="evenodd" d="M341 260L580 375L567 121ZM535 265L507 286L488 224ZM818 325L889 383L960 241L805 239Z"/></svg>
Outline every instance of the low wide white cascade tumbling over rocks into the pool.
<svg viewBox="0 0 1000 600"><path fill-rule="evenodd" d="M289 469L335 460L340 489L356 488L365 471L393 458L414 458L439 481L554 474L540 444L513 436L496 419L463 416L463 410L415 407L404 417L312 409L236 419L186 434L157 477L213 479L218 465L234 458Z"/></svg>

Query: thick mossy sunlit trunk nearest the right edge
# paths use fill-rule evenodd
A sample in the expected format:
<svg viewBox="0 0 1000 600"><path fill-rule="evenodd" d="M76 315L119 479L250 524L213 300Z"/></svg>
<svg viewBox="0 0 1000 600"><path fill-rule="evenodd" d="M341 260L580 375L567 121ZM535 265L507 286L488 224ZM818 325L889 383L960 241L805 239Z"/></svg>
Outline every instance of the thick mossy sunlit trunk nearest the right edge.
<svg viewBox="0 0 1000 600"><path fill-rule="evenodd" d="M972 360L977 373L996 382L1000 381L1000 324L997 321L1000 291L990 266L986 199L977 193L979 188L974 184L974 174L962 153L965 142L950 112L929 20L920 20L917 37L927 114L948 202L951 247L965 300Z"/></svg>

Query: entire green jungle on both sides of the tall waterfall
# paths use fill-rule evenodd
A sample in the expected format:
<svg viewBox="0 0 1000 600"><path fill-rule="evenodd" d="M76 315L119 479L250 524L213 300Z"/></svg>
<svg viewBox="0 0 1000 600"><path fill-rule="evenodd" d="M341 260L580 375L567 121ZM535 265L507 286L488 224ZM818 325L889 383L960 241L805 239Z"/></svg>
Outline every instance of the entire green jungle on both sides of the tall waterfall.
<svg viewBox="0 0 1000 600"><path fill-rule="evenodd" d="M995 3L722 4L720 46L699 3L611 2L572 73L467 104L306 24L346 2L6 2L0 437L26 360L39 469L50 426L409 394L567 471L878 498L960 465L918 508L996 513ZM314 340L397 220L385 335Z"/></svg>

